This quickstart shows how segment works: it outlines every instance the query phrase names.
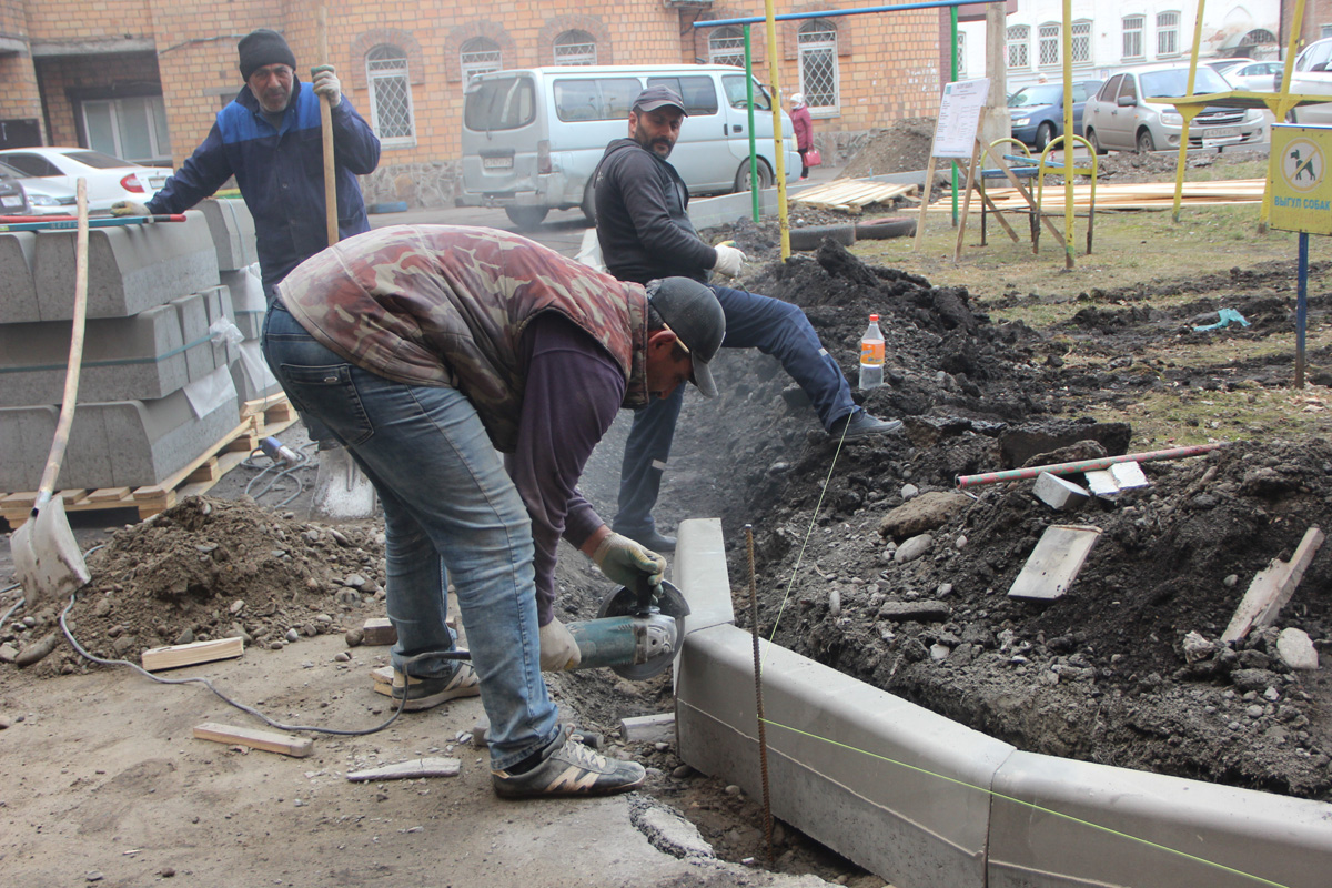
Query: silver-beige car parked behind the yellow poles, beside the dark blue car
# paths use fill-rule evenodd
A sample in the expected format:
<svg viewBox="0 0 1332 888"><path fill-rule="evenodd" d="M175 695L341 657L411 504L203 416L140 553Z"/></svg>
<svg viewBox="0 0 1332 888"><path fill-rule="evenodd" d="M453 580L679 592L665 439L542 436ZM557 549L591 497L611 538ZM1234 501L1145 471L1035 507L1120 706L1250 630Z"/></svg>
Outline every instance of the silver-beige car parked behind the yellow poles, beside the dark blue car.
<svg viewBox="0 0 1332 888"><path fill-rule="evenodd" d="M1171 103L1187 95L1188 65L1148 65L1114 75L1083 111L1087 141L1096 153L1107 149L1154 152L1179 148L1184 117ZM1207 65L1199 65L1193 95L1231 92L1231 85ZM1207 107L1188 128L1188 146L1261 142L1263 112L1256 108Z"/></svg>

